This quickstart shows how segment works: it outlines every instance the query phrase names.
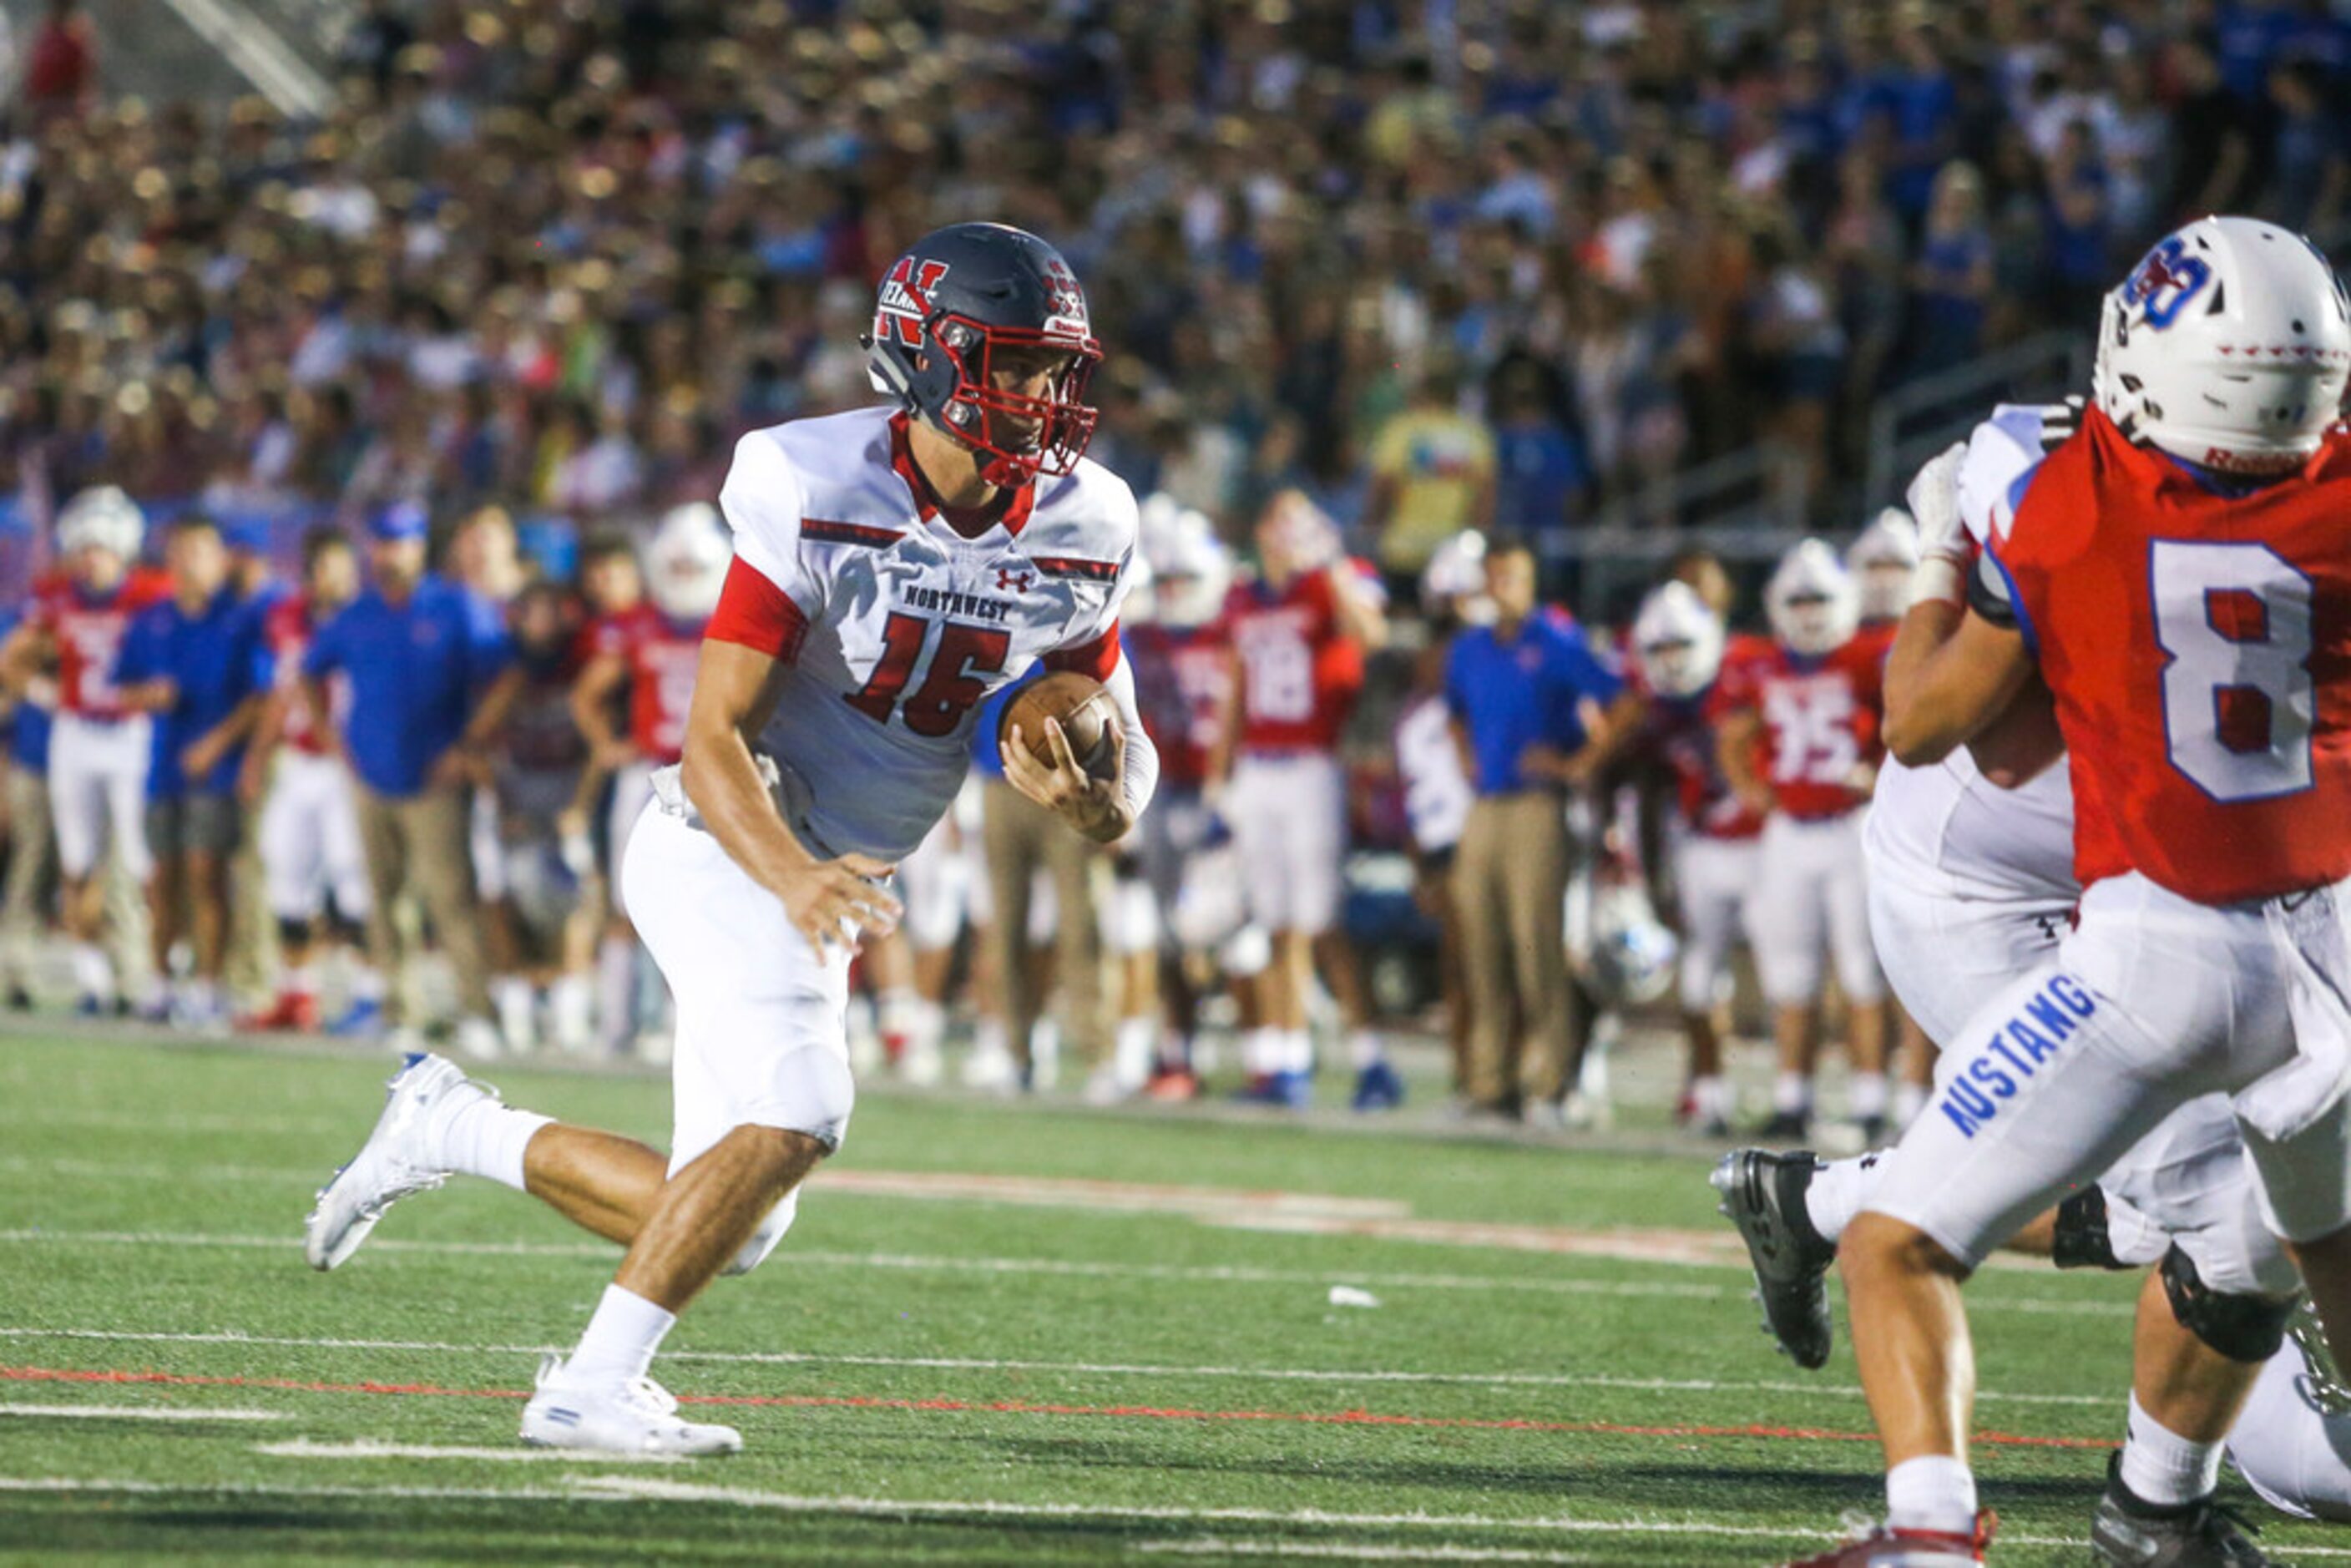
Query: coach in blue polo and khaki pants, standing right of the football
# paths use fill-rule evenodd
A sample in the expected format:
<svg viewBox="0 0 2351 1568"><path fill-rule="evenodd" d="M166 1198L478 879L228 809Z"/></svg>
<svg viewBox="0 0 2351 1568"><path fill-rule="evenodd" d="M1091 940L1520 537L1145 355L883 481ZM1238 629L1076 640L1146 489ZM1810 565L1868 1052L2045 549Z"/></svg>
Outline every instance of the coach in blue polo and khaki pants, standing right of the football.
<svg viewBox="0 0 2351 1568"><path fill-rule="evenodd" d="M1462 1091L1472 1110L1545 1119L1556 1117L1580 1056L1566 792L1589 783L1632 733L1639 701L1570 616L1535 604L1535 555L1523 541L1486 550L1486 592L1495 623L1455 637L1446 658L1453 738L1476 790L1453 851L1469 983ZM1509 1034L1514 1018L1521 1037Z"/></svg>

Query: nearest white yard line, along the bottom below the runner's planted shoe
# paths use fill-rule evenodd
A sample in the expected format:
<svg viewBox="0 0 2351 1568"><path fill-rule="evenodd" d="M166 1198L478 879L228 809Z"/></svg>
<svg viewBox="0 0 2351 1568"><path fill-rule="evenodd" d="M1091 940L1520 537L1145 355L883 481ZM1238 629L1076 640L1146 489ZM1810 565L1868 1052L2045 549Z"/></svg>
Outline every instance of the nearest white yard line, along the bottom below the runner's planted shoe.
<svg viewBox="0 0 2351 1568"><path fill-rule="evenodd" d="M592 1465L585 1455L574 1455ZM724 1507L766 1509L778 1514L846 1514L863 1519L1058 1519L1103 1523L1267 1523L1305 1528L1378 1528L1378 1530L1502 1530L1521 1535L1719 1535L1742 1540L1838 1540L1838 1530L1806 1530L1782 1526L1712 1523L1704 1519L1570 1519L1561 1514L1509 1519L1500 1514L1331 1514L1324 1509L1244 1509L1244 1507L1161 1507L1161 1505L1096 1505L1096 1502L990 1502L990 1500L940 1500L940 1497L809 1497L792 1493L762 1493L745 1486L698 1486L694 1481L663 1481L656 1476L562 1476L555 1486L174 1486L139 1479L89 1479L89 1476L0 1476L0 1493L33 1495L150 1495L150 1497L421 1497L454 1502L712 1502ZM2083 1547L2074 1535L2003 1535L2015 1547ZM2297 1559L2346 1559L2351 1547L2292 1547Z"/></svg>

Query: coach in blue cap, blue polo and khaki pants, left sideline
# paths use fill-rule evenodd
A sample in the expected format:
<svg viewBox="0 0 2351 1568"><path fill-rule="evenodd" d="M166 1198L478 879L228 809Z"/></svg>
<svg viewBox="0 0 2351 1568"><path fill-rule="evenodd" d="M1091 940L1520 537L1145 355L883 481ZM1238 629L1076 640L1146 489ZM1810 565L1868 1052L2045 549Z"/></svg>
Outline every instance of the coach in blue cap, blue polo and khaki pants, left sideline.
<svg viewBox="0 0 2351 1568"><path fill-rule="evenodd" d="M317 630L303 658L303 691L320 729L331 729L327 677L350 682L343 752L357 778L360 842L374 905L369 957L388 980L400 961L393 903L416 893L456 969L458 1048L494 1053L482 912L468 853L468 785L482 769L513 682L503 630L484 625L465 592L426 571L426 512L397 503L367 529L369 585ZM402 987L386 1020L407 1027Z"/></svg>

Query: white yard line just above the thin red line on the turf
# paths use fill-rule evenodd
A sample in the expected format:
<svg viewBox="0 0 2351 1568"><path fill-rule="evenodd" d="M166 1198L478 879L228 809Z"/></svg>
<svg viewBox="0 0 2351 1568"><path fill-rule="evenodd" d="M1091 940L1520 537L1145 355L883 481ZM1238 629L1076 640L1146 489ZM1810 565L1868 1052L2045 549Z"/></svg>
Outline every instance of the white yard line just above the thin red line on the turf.
<svg viewBox="0 0 2351 1568"><path fill-rule="evenodd" d="M125 1345L252 1345L280 1349L393 1349L423 1354L538 1356L562 1345L468 1345L456 1340L334 1340L313 1335L249 1333L155 1333L132 1328L26 1328L5 1326L0 1340L108 1340ZM994 1356L828 1356L788 1349L668 1349L663 1361L712 1366L882 1366L940 1373L1063 1373L1072 1378L1237 1378L1244 1382L1413 1382L1526 1389L1627 1389L1639 1394L1831 1394L1860 1399L1846 1382L1714 1382L1704 1378L1610 1378L1603 1373L1404 1373L1321 1366L1164 1366L1145 1361L1016 1361ZM2114 1408L2121 1394L2001 1394L1980 1389L1982 1401L2031 1406Z"/></svg>

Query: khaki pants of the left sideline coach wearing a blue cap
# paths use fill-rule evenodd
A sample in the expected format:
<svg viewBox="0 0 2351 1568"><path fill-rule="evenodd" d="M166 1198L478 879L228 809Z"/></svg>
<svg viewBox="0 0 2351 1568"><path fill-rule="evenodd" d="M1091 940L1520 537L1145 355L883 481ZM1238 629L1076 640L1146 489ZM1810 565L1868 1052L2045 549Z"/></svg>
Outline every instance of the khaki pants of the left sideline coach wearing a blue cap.
<svg viewBox="0 0 2351 1568"><path fill-rule="evenodd" d="M400 929L393 905L402 889L416 893L456 971L458 1013L489 1018L489 971L482 961L482 905L473 886L473 827L463 790L423 795L376 795L353 785L360 799L360 849L367 851L367 957L386 980L400 969ZM386 985L383 1013L404 1023L402 987Z"/></svg>

